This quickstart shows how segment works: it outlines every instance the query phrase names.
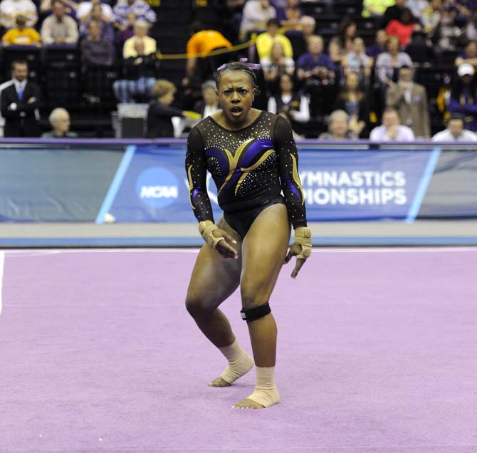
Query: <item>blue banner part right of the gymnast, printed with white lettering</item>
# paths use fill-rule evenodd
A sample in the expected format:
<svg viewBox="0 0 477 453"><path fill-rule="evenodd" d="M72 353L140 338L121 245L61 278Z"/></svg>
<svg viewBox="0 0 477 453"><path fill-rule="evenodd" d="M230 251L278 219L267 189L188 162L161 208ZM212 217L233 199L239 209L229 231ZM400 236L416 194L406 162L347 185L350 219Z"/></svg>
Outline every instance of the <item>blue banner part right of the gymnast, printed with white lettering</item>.
<svg viewBox="0 0 477 453"><path fill-rule="evenodd" d="M300 150L310 222L414 221L440 150Z"/></svg>

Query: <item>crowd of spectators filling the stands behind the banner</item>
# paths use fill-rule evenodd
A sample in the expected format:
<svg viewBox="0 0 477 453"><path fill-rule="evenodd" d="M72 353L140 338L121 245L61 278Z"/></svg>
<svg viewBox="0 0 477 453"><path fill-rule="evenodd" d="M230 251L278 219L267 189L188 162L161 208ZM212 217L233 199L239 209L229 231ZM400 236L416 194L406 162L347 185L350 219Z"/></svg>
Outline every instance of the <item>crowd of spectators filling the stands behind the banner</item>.
<svg viewBox="0 0 477 453"><path fill-rule="evenodd" d="M1 0L1 45L77 46L84 73L92 67L120 65L112 92L117 103L150 103L149 137L173 133L172 113L191 124L192 119L218 110L216 68L231 58L226 51L251 39L253 45L242 53L261 65L263 93L257 106L287 118L296 137L461 140L477 131L477 5L473 2L364 0L361 11L343 14L335 28L327 27L317 15L305 14L300 0L222 3L229 11L228 21L190 25L184 74L175 84L161 77L157 59L161 43L152 33L157 14L145 0L111 4ZM333 2L310 3L320 4L325 13L333 11ZM424 54L429 58L422 58ZM449 54L453 56L447 61L449 78L440 87L439 98L430 102L429 86L419 83L420 71L441 65ZM0 85L4 135L39 135L41 87L26 83L27 75L22 78L26 64L14 63L11 80ZM34 88L33 102L23 99L21 85ZM179 93L177 100L175 93ZM68 105L57 107L63 110L53 110L54 122L66 113L69 127ZM56 131L51 136L61 136L51 118ZM11 127L14 120L22 127ZM441 135L435 135L442 129Z"/></svg>

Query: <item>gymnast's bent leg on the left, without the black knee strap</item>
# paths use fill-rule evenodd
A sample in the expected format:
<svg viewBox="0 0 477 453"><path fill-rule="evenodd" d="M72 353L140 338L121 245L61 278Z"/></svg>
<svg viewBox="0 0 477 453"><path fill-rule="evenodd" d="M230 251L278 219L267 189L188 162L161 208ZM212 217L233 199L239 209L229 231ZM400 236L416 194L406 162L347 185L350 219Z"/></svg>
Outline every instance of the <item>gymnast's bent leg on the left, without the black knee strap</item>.
<svg viewBox="0 0 477 453"><path fill-rule="evenodd" d="M220 219L217 226L237 241L239 259L226 259L207 244L197 256L187 290L186 307L199 329L229 361L224 373L209 383L227 387L253 367L253 359L236 342L229 320L219 305L239 286L241 271L241 237Z"/></svg>

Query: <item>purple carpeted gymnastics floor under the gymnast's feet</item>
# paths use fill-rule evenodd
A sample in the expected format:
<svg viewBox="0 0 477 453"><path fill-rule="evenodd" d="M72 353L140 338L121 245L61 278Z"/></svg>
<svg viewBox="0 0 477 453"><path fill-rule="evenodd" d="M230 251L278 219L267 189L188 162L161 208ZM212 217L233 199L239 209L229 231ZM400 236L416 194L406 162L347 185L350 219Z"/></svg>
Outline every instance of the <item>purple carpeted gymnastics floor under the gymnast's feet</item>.
<svg viewBox="0 0 477 453"><path fill-rule="evenodd" d="M477 249L316 249L295 281L288 264L268 410L230 407L253 373L206 385L225 364L184 309L195 258L6 251L0 452L477 452Z"/></svg>

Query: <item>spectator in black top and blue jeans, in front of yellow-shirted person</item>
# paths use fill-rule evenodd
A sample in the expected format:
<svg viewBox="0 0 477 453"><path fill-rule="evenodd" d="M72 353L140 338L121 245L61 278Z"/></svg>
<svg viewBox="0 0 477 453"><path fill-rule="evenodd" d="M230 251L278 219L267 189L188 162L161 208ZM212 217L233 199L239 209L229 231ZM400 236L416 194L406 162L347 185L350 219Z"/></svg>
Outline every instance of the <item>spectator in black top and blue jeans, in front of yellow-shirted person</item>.
<svg viewBox="0 0 477 453"><path fill-rule="evenodd" d="M125 58L122 62L125 78L112 84L112 90L120 103L133 103L137 99L149 102L152 88L156 83L155 51L147 53L145 41L141 39L137 39L134 46L135 55Z"/></svg>

